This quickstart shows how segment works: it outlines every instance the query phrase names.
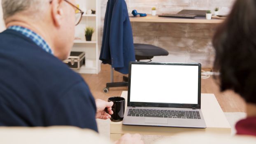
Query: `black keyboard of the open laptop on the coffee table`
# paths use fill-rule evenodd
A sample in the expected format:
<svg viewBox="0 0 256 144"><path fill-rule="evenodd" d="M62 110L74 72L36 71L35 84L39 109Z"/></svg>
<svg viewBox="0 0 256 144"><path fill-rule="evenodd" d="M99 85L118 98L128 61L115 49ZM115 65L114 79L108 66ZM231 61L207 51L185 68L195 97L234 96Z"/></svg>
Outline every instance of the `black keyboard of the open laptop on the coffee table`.
<svg viewBox="0 0 256 144"><path fill-rule="evenodd" d="M199 111L162 110L162 109L129 109L127 116L201 119Z"/></svg>

